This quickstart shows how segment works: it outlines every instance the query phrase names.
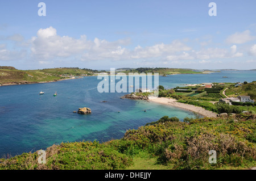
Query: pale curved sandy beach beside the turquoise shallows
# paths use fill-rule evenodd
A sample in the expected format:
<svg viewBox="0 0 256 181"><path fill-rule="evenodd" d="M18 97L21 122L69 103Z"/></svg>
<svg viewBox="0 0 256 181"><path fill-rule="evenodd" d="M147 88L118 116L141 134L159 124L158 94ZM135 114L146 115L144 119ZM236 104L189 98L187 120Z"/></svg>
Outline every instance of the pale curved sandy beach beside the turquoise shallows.
<svg viewBox="0 0 256 181"><path fill-rule="evenodd" d="M148 100L152 101L152 102L155 102L155 103L166 104L168 106L183 108L185 110L189 110L189 111L199 113L200 115L203 115L205 117L217 117L217 113L205 110L202 107L193 106L191 104L179 103L179 102L177 102L176 99L156 98L156 97L153 97L153 96L149 96Z"/></svg>

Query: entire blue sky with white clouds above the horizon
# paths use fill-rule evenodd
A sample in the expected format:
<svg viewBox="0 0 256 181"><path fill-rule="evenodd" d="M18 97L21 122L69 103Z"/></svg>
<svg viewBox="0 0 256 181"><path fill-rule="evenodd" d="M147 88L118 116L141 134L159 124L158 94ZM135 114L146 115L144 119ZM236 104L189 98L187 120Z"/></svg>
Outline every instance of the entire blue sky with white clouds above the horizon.
<svg viewBox="0 0 256 181"><path fill-rule="evenodd" d="M255 0L0 1L0 65L256 69L255 8Z"/></svg>

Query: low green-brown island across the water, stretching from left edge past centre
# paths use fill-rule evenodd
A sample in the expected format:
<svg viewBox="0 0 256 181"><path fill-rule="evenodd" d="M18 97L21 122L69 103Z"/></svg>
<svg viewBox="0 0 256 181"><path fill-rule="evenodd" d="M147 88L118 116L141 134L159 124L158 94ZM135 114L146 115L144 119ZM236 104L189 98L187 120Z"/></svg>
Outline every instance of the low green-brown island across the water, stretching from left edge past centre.
<svg viewBox="0 0 256 181"><path fill-rule="evenodd" d="M172 74L204 74L209 73L193 69L173 68L121 68L117 72L129 73L159 73L160 75ZM63 79L72 79L85 76L96 76L100 73L108 73L107 70L92 70L80 68L52 68L38 70L18 70L13 66L0 66L0 86L20 85L30 83L55 82Z"/></svg>

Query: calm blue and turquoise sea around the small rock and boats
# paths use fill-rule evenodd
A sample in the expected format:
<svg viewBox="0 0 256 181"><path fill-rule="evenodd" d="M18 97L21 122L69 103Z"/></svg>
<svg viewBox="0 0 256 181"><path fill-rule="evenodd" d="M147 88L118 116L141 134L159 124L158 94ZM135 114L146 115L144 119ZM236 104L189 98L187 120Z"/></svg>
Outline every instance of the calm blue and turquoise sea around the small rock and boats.
<svg viewBox="0 0 256 181"><path fill-rule="evenodd" d="M223 71L211 74L159 77L166 88L202 82L251 82L256 71ZM228 78L222 78L226 76ZM193 117L193 113L143 100L120 99L125 93L99 93L97 77L34 85L0 87L0 158L46 149L72 141L108 141L121 138L162 116ZM44 95L39 95L44 91ZM56 97L53 94L57 91ZM102 102L105 100L106 102ZM80 107L90 115L73 113ZM144 110L147 110L144 112Z"/></svg>

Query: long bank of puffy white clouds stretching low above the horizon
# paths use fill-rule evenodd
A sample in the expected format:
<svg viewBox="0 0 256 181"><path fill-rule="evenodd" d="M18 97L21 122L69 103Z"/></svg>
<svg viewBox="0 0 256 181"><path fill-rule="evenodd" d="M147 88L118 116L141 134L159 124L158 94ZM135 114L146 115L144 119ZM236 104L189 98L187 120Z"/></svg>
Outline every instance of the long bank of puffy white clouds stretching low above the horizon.
<svg viewBox="0 0 256 181"><path fill-rule="evenodd" d="M241 34L246 35L246 33L248 34L245 31L235 35L238 37ZM139 62L137 65L146 65L147 62L147 65L204 64L206 66L209 62L219 61L218 59L223 61L223 58L243 56L236 44L227 48L207 47L212 43L212 39L209 38L205 37L207 41L201 43L199 40L196 42L193 40L187 40L186 42L173 40L170 43L158 43L147 47L137 45L134 48L127 48L127 45L131 44L130 38L107 41L95 37L93 40L88 40L86 35L81 35L79 38L59 36L55 28L49 27L38 30L36 36L30 40L23 40L23 36L19 34L9 36L10 40L17 41L13 43L16 47L10 50L10 45L0 44L0 60L14 60L15 58L25 57L27 55L26 51L17 50L23 44L30 48L28 60L36 60L40 65L54 65L57 61L62 63L74 60L101 62L132 60ZM193 49L192 46L187 45L192 42L195 43L195 47L200 48ZM19 48L18 45L20 45ZM256 44L250 47L249 54L256 55Z"/></svg>

